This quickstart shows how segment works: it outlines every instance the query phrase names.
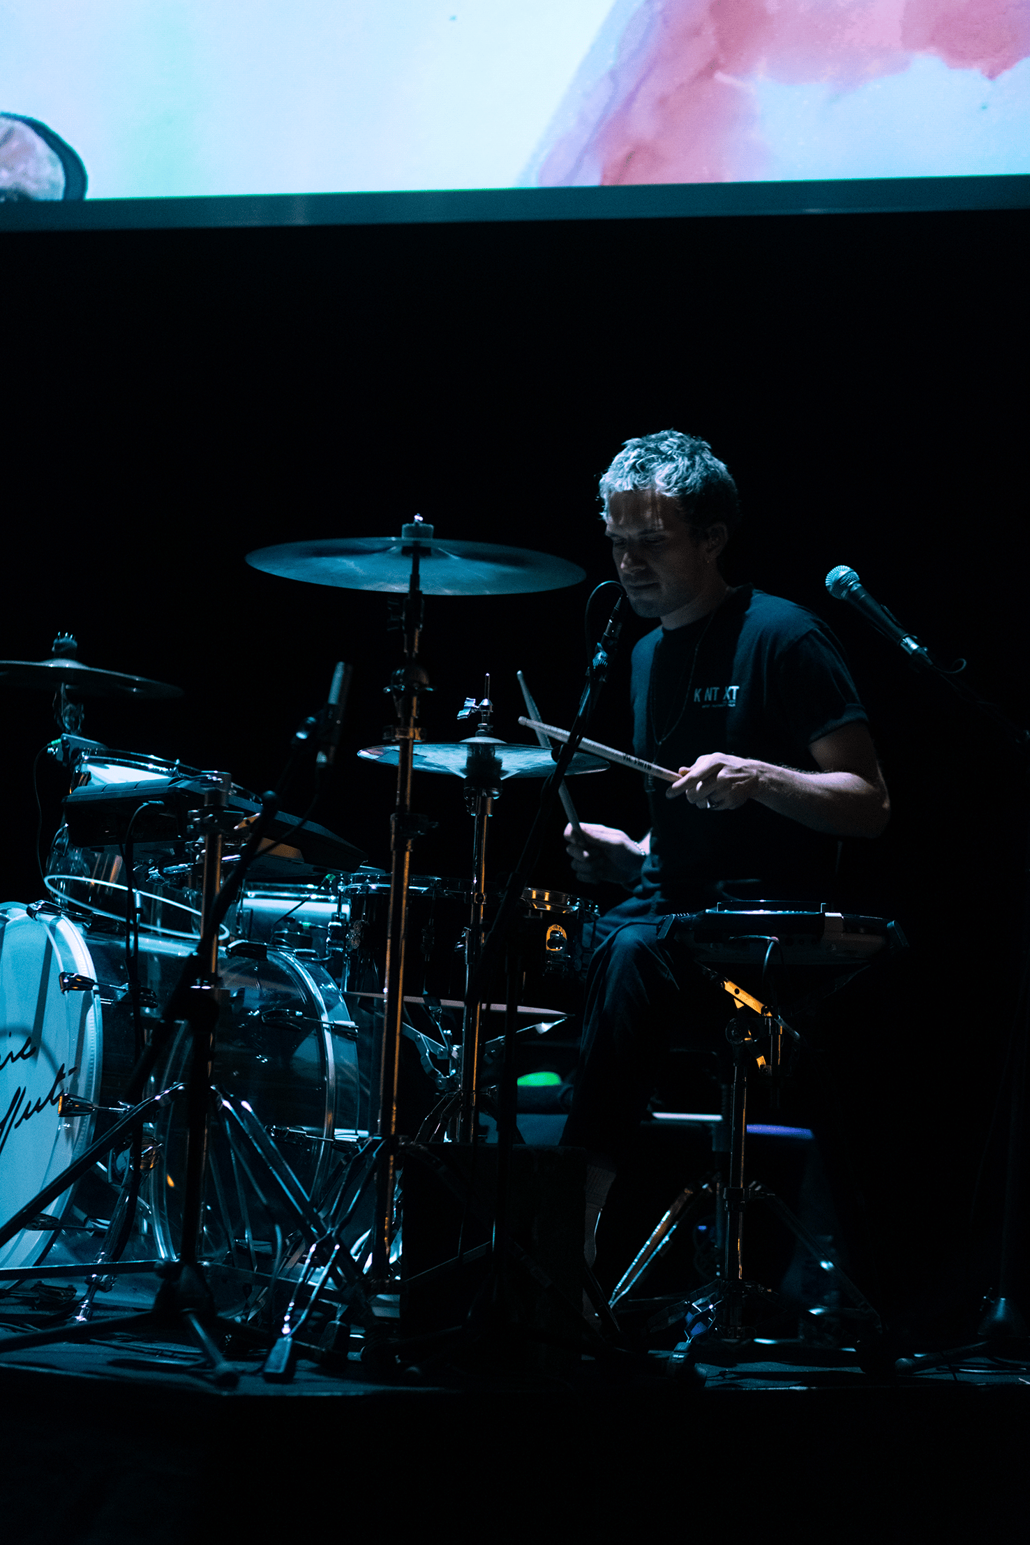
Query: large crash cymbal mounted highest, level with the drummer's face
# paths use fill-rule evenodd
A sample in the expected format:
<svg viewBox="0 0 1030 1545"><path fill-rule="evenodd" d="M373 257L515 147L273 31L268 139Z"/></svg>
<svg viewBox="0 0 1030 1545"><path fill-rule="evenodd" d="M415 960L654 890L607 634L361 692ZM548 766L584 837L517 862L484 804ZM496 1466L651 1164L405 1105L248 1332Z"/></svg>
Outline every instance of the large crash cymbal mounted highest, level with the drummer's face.
<svg viewBox="0 0 1030 1545"><path fill-rule="evenodd" d="M431 525L423 531L418 533L418 586L425 595L525 595L561 590L585 578L578 564L550 553L493 542L445 542L432 535ZM411 538L337 536L321 542L284 542L247 553L247 562L304 584L400 592L411 579Z"/></svg>

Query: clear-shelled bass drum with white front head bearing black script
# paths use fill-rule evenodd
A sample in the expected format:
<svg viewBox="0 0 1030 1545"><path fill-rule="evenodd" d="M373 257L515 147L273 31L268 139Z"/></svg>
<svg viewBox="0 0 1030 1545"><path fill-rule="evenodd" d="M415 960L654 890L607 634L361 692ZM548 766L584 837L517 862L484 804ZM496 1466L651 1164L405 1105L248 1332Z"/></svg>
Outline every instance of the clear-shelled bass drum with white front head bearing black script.
<svg viewBox="0 0 1030 1545"><path fill-rule="evenodd" d="M141 933L145 1018L159 1017L188 953L185 941ZM304 1190L317 1196L337 1143L354 1140L358 1125L357 1029L340 990L315 961L263 946L221 953L219 978L213 1082L249 1102ZM182 1029L162 1058L156 1088L185 1077L188 1051ZM25 1207L108 1122L105 1114L59 1117L59 1095L114 1106L133 1061L125 941L117 929L102 919L86 927L48 905L0 907L0 1219ZM184 1137L185 1105L178 1100L148 1132L158 1162L141 1190L142 1227L161 1256L179 1248ZM290 1216L278 1219L263 1207L218 1123L210 1151L205 1259L232 1262L238 1242L249 1239L250 1264L273 1239L276 1222L284 1233L292 1227ZM73 1199L69 1190L46 1213L65 1216ZM34 1265L53 1238L53 1230L23 1231L0 1248L0 1265Z"/></svg>

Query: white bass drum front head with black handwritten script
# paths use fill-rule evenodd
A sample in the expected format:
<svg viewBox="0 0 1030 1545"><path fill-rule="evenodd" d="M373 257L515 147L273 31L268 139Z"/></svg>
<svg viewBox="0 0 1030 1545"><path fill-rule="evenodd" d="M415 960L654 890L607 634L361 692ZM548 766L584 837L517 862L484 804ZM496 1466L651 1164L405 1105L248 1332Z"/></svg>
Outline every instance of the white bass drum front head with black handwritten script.
<svg viewBox="0 0 1030 1545"><path fill-rule="evenodd" d="M141 939L144 998L164 1003L188 946ZM96 1114L60 1117L62 1094L116 1105L133 1066L125 944L93 936L48 902L0 907L0 1219L8 1219L94 1139ZM46 1208L62 1219L68 1190ZM57 1230L25 1230L0 1265L36 1265Z"/></svg>

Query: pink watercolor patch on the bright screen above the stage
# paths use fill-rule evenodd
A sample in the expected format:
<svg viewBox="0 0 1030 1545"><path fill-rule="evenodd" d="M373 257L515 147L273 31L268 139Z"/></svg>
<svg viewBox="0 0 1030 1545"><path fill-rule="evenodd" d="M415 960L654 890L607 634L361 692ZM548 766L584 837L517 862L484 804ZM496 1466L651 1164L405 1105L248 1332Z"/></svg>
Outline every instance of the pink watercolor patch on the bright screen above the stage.
<svg viewBox="0 0 1030 1545"><path fill-rule="evenodd" d="M767 175L755 79L837 91L919 56L994 80L1030 54L1030 0L645 0L544 185Z"/></svg>

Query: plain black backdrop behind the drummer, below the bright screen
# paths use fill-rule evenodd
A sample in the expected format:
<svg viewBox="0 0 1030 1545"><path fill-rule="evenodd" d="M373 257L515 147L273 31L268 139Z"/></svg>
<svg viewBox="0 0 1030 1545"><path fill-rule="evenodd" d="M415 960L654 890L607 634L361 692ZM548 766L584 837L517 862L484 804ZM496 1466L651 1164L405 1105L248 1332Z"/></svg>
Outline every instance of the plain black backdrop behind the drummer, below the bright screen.
<svg viewBox="0 0 1030 1545"><path fill-rule="evenodd" d="M270 542L381 535L418 511L452 538L525 545L605 578L596 479L622 439L675 425L735 473L746 527L729 578L812 607L869 708L894 819L848 844L845 895L897 916L913 950L842 1001L832 1055L899 1313L991 1287L996 1146L962 1256L1013 1001L1025 782L1001 737L829 599L854 565L1010 714L1025 689L1024 213L727 218L8 235L5 606L0 657L74 630L91 664L174 681L181 703L96 705L113 746L273 783L296 722L354 663L344 754L320 819L388 854L392 785L352 752L380 739L398 643L381 596L244 564ZM426 729L493 675L523 739L514 672L571 718L587 586L429 599ZM630 643L641 624L629 629ZM629 745L629 647L599 739ZM2 888L40 893L31 765L42 697L3 697ZM43 766L45 837L59 814ZM635 776L578 785L584 819L639 834ZM536 791L507 785L491 868ZM289 793L303 806L301 777ZM457 782L422 776L440 825L415 871L460 874ZM732 819L732 817L730 817ZM570 887L557 828L539 884ZM616 896L601 896L608 904ZM831 1037L832 1041L832 1037ZM964 1261L970 1261L967 1272ZM916 1306L916 1307L913 1307Z"/></svg>

